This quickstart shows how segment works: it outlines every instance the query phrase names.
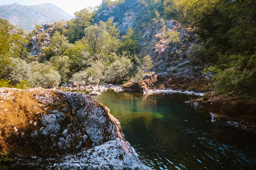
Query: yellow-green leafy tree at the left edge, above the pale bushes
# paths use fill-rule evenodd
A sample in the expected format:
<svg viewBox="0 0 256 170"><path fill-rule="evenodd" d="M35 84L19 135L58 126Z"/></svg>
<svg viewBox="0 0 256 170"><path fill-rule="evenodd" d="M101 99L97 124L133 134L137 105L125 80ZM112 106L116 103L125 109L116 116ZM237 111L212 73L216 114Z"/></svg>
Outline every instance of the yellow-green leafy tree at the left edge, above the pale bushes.
<svg viewBox="0 0 256 170"><path fill-rule="evenodd" d="M0 71L11 64L10 57L20 57L22 50L26 51L24 44L28 41L19 34L11 34L9 28L0 29Z"/></svg>

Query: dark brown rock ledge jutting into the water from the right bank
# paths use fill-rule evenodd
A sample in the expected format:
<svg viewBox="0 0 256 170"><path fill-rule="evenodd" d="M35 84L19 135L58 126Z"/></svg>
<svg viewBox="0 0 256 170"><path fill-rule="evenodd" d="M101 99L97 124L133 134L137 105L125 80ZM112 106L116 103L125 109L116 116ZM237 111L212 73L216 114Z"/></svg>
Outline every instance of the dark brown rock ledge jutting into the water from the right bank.
<svg viewBox="0 0 256 170"><path fill-rule="evenodd" d="M256 103L251 99L206 93L202 99L187 103L210 112L213 123L256 133Z"/></svg>

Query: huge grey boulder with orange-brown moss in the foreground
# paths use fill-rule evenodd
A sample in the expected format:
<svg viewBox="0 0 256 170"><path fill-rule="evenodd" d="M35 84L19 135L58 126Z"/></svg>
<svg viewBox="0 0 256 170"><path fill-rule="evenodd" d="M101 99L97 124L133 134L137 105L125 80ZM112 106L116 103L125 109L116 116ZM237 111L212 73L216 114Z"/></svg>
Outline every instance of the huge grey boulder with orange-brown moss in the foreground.
<svg viewBox="0 0 256 170"><path fill-rule="evenodd" d="M147 169L118 120L90 96L0 88L2 156L13 168Z"/></svg>

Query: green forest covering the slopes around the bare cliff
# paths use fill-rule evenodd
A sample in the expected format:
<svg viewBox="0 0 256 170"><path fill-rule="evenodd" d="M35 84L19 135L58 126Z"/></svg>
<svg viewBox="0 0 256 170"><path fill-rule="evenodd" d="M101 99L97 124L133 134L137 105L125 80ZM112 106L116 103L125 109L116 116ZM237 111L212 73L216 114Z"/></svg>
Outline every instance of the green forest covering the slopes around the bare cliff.
<svg viewBox="0 0 256 170"><path fill-rule="evenodd" d="M155 23L162 35L179 41L178 34L166 32L166 20L177 20L191 28L196 43L189 58L201 65L202 73L214 80L214 91L255 98L256 84L256 2L253 0L141 0L145 6L141 25L121 35L116 24L96 21L99 12L123 1L103 0L100 6L84 8L69 21L56 21L49 46L40 58L28 55L28 34L12 34L7 20L0 23L1 87L51 88L62 83L123 84L141 79L155 64L141 52L142 32ZM140 29L138 29L140 28ZM176 39L175 39L176 38ZM43 44L44 37L38 38ZM207 66L207 67L204 67Z"/></svg>

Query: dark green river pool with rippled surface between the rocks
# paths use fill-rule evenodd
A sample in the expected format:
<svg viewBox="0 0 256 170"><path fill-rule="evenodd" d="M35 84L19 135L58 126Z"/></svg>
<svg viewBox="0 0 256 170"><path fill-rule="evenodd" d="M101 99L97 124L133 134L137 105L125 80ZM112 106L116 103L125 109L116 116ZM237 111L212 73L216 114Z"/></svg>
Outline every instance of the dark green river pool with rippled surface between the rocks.
<svg viewBox="0 0 256 170"><path fill-rule="evenodd" d="M152 169L255 169L256 135L210 122L180 93L102 92L125 138Z"/></svg>

